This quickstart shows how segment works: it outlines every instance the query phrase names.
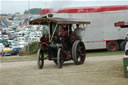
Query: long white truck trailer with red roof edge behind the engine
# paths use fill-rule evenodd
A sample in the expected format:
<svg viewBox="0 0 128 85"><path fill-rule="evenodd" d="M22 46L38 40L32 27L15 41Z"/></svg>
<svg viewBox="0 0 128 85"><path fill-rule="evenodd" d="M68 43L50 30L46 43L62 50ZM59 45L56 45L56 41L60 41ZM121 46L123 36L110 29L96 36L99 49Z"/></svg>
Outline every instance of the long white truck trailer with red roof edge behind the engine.
<svg viewBox="0 0 128 85"><path fill-rule="evenodd" d="M52 13L53 17L78 18L90 21L83 41L87 50L124 50L128 32L128 5L64 8L58 11L44 9L41 15ZM123 24L123 25L122 25Z"/></svg>

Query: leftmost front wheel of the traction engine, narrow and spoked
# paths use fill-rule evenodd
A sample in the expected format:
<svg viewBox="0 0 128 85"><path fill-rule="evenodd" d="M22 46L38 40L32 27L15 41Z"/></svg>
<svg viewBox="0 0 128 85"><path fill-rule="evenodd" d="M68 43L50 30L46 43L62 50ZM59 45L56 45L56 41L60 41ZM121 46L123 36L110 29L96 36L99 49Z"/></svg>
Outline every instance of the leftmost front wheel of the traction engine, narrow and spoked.
<svg viewBox="0 0 128 85"><path fill-rule="evenodd" d="M42 69L44 66L44 52L40 49L38 49L37 52L37 65L39 69Z"/></svg>

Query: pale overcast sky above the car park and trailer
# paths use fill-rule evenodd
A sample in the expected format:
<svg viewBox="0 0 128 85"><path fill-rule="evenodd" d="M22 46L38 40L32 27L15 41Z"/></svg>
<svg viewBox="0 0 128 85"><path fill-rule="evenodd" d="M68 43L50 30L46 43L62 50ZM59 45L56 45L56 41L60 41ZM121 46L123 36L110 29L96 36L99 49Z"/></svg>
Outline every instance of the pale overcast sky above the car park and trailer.
<svg viewBox="0 0 128 85"><path fill-rule="evenodd" d="M128 5L128 0L0 0L1 13L23 13L30 8Z"/></svg>

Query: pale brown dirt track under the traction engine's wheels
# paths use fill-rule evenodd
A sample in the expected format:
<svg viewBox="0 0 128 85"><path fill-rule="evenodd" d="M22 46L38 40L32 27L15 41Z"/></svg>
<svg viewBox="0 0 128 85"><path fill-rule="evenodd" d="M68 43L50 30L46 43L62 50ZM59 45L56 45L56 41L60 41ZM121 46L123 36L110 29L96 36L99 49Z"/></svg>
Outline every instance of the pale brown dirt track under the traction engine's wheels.
<svg viewBox="0 0 128 85"><path fill-rule="evenodd" d="M128 85L122 59L123 55L87 57L83 65L70 61L62 69L46 60L42 70L36 61L0 63L0 85Z"/></svg>

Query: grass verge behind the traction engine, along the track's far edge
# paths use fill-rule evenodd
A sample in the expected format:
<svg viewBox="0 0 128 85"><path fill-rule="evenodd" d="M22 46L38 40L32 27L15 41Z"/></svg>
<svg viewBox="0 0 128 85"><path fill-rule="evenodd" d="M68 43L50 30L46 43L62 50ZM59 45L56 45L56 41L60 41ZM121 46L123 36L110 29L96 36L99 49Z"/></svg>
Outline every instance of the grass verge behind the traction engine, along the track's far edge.
<svg viewBox="0 0 128 85"><path fill-rule="evenodd" d="M94 56L111 56L111 55L124 55L124 51L108 52L106 50L87 51L87 57ZM36 54L27 56L0 56L0 62L17 62L17 61L32 61L37 60Z"/></svg>

